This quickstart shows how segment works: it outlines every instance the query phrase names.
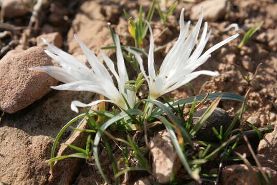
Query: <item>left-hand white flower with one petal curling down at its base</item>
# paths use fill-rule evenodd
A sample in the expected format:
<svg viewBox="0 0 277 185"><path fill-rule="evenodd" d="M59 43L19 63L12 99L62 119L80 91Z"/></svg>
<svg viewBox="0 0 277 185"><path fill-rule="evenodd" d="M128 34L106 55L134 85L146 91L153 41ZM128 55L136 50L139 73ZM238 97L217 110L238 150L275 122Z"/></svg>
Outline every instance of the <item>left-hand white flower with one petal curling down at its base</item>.
<svg viewBox="0 0 277 185"><path fill-rule="evenodd" d="M135 103L135 94L133 91L125 89L125 82L128 81L128 75L121 52L119 36L116 35L118 73L115 70L113 61L110 60L103 52L101 53L106 65L116 78L118 88L115 86L112 76L110 76L108 70L100 62L96 55L92 51L90 51L89 48L82 41L80 41L76 35L75 39L79 42L82 51L85 54L86 59L93 70L89 69L85 64L80 62L72 55L62 51L56 46L51 45L45 39L43 39L43 41L50 48L48 50L45 50L45 52L53 60L57 61L62 67L41 66L29 69L44 71L53 78L56 78L57 80L65 83L56 87L51 87L53 89L92 91L94 93L102 94L109 99L97 100L89 104L84 104L80 101L72 101L71 109L77 113L77 106L93 106L103 101L111 102L116 104L120 108L127 109L128 107L122 96L126 98L128 104L132 108Z"/></svg>

